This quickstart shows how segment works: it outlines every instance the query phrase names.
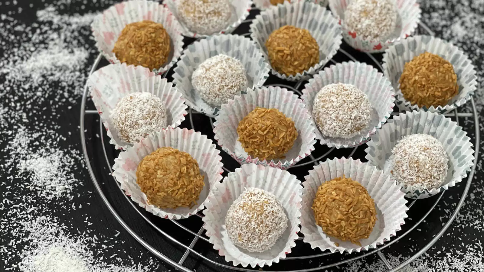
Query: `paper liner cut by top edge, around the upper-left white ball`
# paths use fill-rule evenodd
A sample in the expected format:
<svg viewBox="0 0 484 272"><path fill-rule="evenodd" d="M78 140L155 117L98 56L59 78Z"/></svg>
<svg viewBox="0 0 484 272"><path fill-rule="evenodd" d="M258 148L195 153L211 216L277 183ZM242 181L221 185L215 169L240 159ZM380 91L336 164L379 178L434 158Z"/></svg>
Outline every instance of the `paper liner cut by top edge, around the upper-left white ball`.
<svg viewBox="0 0 484 272"><path fill-rule="evenodd" d="M178 15L178 2L179 0L166 0L163 1L165 6L170 10L170 12L175 15L175 17L180 18ZM205 34L198 34L196 32L193 32L189 30L185 24L183 23L182 20L180 21L181 25L181 33L183 36L189 37L189 38L204 38L204 37L209 37L214 34L224 34L224 33L231 33L234 31L236 28L238 28L241 24L242 21L249 16L249 12L252 6L252 0L229 0L230 5L231 5L231 12L232 15L229 19L229 22L227 23L227 27L218 32L218 33L213 33L210 35L205 35Z"/></svg>

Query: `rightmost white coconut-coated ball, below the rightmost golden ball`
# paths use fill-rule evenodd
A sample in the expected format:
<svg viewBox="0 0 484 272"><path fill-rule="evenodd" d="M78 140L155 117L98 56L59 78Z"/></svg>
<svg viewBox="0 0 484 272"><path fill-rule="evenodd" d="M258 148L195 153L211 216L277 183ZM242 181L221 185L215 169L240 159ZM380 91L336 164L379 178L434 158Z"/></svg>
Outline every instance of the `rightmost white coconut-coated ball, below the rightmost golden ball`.
<svg viewBox="0 0 484 272"><path fill-rule="evenodd" d="M447 153L442 143L430 135L405 136L393 147L392 153L393 178L407 186L432 189L447 177Z"/></svg>

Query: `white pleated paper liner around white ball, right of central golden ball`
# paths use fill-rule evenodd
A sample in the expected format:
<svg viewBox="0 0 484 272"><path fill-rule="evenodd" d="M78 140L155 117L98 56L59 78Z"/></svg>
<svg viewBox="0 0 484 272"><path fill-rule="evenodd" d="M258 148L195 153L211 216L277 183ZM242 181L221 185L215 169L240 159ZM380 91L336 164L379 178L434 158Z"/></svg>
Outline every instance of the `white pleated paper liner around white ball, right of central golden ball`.
<svg viewBox="0 0 484 272"><path fill-rule="evenodd" d="M317 75L309 79L302 90L302 101L313 118L313 103L318 92L326 85L333 83L353 84L363 91L370 101L372 112L368 127L359 135L352 138L333 138L321 134L316 123L314 125L316 138L321 144L329 147L348 148L362 145L375 134L375 131L384 124L393 112L394 92L390 81L379 73L373 66L362 62L343 62L331 65L319 71Z"/></svg>

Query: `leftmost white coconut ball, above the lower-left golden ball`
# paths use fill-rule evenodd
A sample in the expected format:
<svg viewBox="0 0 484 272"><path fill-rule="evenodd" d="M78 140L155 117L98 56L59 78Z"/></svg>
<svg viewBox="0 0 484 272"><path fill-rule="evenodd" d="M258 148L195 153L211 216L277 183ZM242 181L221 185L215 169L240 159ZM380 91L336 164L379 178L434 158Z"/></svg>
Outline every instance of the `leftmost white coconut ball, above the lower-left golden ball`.
<svg viewBox="0 0 484 272"><path fill-rule="evenodd" d="M149 92L124 96L109 117L121 140L130 144L167 126L165 105Z"/></svg>

